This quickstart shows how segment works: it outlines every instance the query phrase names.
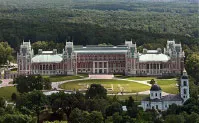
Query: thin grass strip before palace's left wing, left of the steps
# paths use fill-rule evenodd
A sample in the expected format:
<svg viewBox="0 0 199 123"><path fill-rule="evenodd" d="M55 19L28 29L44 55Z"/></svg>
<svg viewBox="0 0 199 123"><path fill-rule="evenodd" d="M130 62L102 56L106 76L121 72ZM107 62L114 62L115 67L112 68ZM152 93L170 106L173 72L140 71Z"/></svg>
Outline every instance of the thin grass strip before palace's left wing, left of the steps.
<svg viewBox="0 0 199 123"><path fill-rule="evenodd" d="M59 82L64 80L81 79L80 76L43 76L44 78L49 78L51 82Z"/></svg>

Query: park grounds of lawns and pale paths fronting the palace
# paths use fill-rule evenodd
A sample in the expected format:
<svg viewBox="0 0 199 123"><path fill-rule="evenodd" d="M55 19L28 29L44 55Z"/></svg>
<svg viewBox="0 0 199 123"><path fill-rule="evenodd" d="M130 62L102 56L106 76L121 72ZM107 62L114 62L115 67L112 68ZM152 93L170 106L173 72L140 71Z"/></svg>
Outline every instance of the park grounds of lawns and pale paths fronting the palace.
<svg viewBox="0 0 199 123"><path fill-rule="evenodd" d="M143 98L147 97L149 95L150 81L152 79L160 85L165 94L178 93L177 78L160 79L157 77L128 77L115 75L113 79L89 79L86 74L43 77L49 78L52 82L52 89L63 91L79 91L85 93L91 84L101 84L106 88L107 94L110 97L117 95L121 100L132 96L135 100L141 101ZM0 88L0 94L8 100L11 100L12 93L18 94L15 86Z"/></svg>

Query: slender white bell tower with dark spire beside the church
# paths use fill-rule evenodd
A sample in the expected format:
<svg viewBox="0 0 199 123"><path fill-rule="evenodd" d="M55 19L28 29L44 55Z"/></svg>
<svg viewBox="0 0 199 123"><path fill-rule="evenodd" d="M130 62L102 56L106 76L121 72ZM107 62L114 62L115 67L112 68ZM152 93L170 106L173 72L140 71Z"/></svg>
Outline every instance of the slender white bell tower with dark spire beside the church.
<svg viewBox="0 0 199 123"><path fill-rule="evenodd" d="M183 71L183 75L180 80L180 96L183 99L183 103L190 98L189 79L186 70Z"/></svg>

